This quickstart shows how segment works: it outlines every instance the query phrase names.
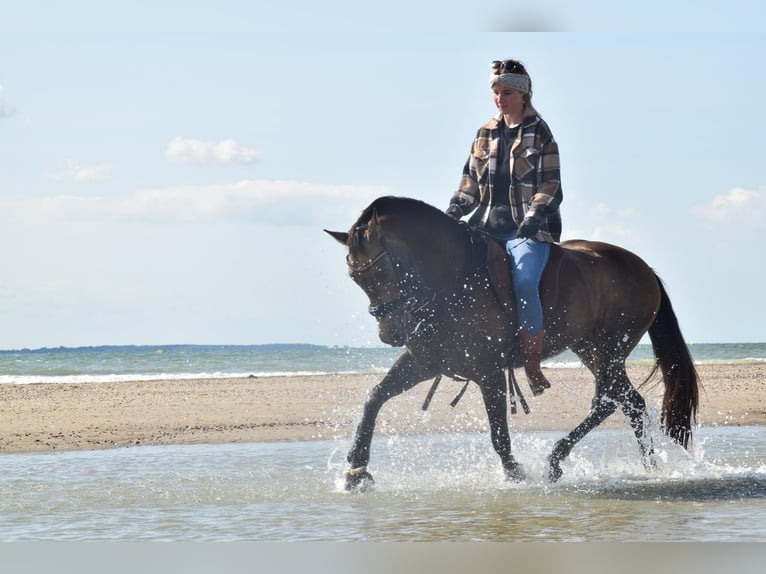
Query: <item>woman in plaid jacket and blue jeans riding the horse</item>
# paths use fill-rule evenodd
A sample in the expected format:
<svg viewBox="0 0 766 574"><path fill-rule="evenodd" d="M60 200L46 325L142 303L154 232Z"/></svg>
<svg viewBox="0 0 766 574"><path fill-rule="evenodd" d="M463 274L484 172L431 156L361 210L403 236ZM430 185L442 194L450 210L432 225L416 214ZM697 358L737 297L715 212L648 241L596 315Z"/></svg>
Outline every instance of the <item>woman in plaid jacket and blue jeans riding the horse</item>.
<svg viewBox="0 0 766 574"><path fill-rule="evenodd" d="M460 219L474 212L471 225L505 241L524 370L540 394L550 383L540 370L539 285L550 244L561 238L559 151L532 107L532 80L521 62L492 62L489 85L499 113L479 128L447 214Z"/></svg>

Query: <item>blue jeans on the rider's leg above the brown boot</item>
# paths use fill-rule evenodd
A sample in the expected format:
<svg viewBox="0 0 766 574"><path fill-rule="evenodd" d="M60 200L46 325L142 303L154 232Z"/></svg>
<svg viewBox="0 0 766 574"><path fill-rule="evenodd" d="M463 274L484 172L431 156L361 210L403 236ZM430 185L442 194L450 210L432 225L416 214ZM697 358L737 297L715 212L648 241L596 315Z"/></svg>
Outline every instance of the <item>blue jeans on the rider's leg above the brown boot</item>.
<svg viewBox="0 0 766 574"><path fill-rule="evenodd" d="M540 278L551 252L550 243L536 239L509 239L508 251L519 329L536 335L543 328Z"/></svg>

